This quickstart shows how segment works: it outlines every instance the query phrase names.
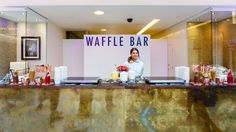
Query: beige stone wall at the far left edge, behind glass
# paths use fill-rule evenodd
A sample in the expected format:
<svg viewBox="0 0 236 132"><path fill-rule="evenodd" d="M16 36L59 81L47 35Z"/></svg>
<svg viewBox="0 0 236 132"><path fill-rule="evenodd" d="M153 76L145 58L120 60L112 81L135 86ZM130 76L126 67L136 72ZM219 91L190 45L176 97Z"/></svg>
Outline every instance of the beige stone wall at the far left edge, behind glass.
<svg viewBox="0 0 236 132"><path fill-rule="evenodd" d="M16 61L16 23L0 18L0 79Z"/></svg>

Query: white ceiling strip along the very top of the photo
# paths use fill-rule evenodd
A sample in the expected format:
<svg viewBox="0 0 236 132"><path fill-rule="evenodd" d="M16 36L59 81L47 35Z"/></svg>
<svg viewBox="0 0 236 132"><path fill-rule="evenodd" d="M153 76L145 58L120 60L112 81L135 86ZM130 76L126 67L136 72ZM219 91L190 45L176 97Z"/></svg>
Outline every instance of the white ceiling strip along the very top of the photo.
<svg viewBox="0 0 236 132"><path fill-rule="evenodd" d="M235 0L1 0L2 6L86 6L86 5L236 5Z"/></svg>

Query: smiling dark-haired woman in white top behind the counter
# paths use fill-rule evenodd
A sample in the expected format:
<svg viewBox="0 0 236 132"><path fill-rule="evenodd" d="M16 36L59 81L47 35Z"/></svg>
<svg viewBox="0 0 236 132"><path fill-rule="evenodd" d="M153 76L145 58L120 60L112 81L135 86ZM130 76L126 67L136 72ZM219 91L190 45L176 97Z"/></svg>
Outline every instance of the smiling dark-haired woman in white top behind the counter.
<svg viewBox="0 0 236 132"><path fill-rule="evenodd" d="M129 70L135 71L136 78L141 78L143 75L144 64L139 59L139 50L137 48L132 48L130 50L130 56L124 65L127 66Z"/></svg>

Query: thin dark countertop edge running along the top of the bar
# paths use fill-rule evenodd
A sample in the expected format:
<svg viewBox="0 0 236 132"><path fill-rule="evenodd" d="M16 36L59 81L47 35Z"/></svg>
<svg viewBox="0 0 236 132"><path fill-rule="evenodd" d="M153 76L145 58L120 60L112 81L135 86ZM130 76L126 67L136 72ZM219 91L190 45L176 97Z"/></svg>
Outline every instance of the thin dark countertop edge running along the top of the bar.
<svg viewBox="0 0 236 132"><path fill-rule="evenodd" d="M103 83L99 82L97 85L41 85L41 86L15 86L15 85L0 85L1 88L11 89L223 89L223 90L236 90L236 84L234 85L202 85L194 86L191 84L180 85L164 85L164 84L147 84L147 83L135 83L135 84L122 84L122 83Z"/></svg>

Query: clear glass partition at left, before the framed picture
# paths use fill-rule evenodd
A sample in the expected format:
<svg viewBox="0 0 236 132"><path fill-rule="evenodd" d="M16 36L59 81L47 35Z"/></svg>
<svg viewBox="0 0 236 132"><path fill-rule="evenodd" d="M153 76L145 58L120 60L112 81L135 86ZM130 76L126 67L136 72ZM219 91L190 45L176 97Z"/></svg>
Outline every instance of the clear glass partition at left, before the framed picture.
<svg viewBox="0 0 236 132"><path fill-rule="evenodd" d="M29 8L0 7L0 79L10 70L10 62L27 62L29 67L46 63L47 19ZM40 58L23 58L27 47L22 38L40 38ZM30 45L30 44L28 44ZM33 56L33 55L32 55Z"/></svg>

